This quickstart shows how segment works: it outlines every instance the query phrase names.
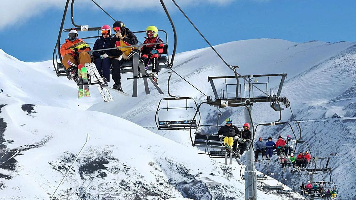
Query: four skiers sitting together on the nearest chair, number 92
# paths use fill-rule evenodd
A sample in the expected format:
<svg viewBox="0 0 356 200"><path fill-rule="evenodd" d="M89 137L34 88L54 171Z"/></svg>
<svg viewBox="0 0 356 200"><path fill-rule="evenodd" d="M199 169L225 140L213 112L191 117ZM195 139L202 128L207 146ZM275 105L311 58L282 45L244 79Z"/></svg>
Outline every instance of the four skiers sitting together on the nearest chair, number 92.
<svg viewBox="0 0 356 200"><path fill-rule="evenodd" d="M126 47L137 45L138 40L135 34L133 34L129 28L125 27L122 21L116 21L112 25L112 29L115 34L111 34L111 27L109 25L103 25L101 27L101 36L95 41L93 51L98 49L108 49L114 47L122 47L117 49L108 49L103 51L94 51L94 63L98 69L100 75L105 79L104 81L110 81L110 65L112 65L112 80L114 80L113 88L122 91L121 87L121 64L125 60L132 59L131 55L135 52L140 52L136 47ZM111 35L113 35L111 37ZM146 28L145 42L148 44L142 46L141 60L145 63L145 68L151 63L153 80L157 83L159 72L159 57L164 53L164 44L150 44L160 43L162 40L158 37L158 29L156 26L148 26ZM70 66L68 60L76 65L91 63L91 57L89 55L91 48L89 45L78 38L78 31L75 28L71 28L68 33L68 38L61 46L61 56L63 66L67 69L73 80L78 83L78 69Z"/></svg>

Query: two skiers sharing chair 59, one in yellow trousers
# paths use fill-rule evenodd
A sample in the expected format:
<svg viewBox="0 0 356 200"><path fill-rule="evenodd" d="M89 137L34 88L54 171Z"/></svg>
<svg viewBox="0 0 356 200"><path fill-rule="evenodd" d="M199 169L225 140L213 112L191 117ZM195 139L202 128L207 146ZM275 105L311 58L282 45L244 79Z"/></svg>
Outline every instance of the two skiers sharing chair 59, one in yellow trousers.
<svg viewBox="0 0 356 200"><path fill-rule="evenodd" d="M237 126L232 125L232 120L227 118L225 120L225 126L222 126L218 131L218 136L223 138L225 147L232 149L237 157L241 157L247 150L248 143L251 141L250 124L244 123L244 129L239 130ZM240 151L237 150L237 146L241 147Z"/></svg>

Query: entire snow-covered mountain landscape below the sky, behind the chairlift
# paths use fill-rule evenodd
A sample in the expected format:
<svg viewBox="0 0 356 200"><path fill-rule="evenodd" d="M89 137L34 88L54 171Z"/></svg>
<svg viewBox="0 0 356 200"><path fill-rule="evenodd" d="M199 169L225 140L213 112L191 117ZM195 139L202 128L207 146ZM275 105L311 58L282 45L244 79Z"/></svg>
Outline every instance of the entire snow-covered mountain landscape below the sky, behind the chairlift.
<svg viewBox="0 0 356 200"><path fill-rule="evenodd" d="M302 121L302 137L308 141L312 156L339 153L330 165L334 181L340 185L339 194L346 199L355 198L354 189L341 186L345 180L352 183L356 179L347 172L355 166L351 159L355 152L352 134L356 115L354 45L256 39L215 47L227 63L240 66L240 74L287 72L282 95L291 101L294 117ZM89 199L98 195L102 199L131 199L135 195L142 199L244 199L237 165L226 167L222 160L198 154L198 149L191 147L189 131L155 128L158 101L168 96L168 70L159 74L159 85L166 95L159 95L153 87L152 95L145 95L140 83L138 98L112 94L115 101L104 103L96 88L91 89L91 98L77 100L77 86L72 80L56 77L52 61L25 63L1 51L0 64L0 142L5 149L1 153L10 158L0 164L3 199L24 199L28 194L32 199L48 198L88 132L92 134L91 140L61 186L61 199L75 198L75 193L81 193L93 177L96 178L85 193ZM232 75L210 48L178 54L174 69L210 96L213 93L208 76ZM122 85L130 93L132 83L127 77L129 74L122 77ZM271 80L269 85L275 86L277 81ZM223 89L224 83L216 87ZM175 74L170 88L174 95L190 96L197 102L206 99ZM202 123L216 123L212 109L203 108ZM252 110L255 125L278 119L269 104L256 104ZM241 110L223 111L236 125L243 123ZM282 114L283 120L290 120L289 110ZM166 116L187 119L192 113L172 112ZM80 125L80 120L86 125ZM257 132L256 137L287 133L286 128L268 128ZM276 173L280 170L277 165L271 169ZM261 199L276 198L263 192L258 195Z"/></svg>

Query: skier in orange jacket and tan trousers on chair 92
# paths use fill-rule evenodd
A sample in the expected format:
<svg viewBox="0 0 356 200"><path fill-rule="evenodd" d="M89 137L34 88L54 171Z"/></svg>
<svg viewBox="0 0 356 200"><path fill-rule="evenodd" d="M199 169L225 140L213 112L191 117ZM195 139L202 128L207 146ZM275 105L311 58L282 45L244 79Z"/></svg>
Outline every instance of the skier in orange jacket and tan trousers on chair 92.
<svg viewBox="0 0 356 200"><path fill-rule="evenodd" d="M87 51L90 51L89 45L78 38L78 31L71 28L68 38L61 46L62 64L67 69L70 77L78 84L78 68L68 65L68 60L76 65L91 63L91 58Z"/></svg>

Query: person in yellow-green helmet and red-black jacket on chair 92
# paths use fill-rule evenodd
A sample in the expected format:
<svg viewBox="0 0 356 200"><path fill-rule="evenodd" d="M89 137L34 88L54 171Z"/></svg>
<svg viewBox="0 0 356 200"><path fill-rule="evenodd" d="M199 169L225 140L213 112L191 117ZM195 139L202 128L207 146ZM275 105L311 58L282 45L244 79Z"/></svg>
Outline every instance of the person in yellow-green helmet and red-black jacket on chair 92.
<svg viewBox="0 0 356 200"><path fill-rule="evenodd" d="M161 38L158 37L158 29L156 26L148 26L146 28L147 37L143 44L157 43L163 42ZM145 67L147 67L148 63L152 63L152 73L153 80L158 84L158 72L159 72L159 57L164 52L164 44L150 44L146 46L142 46L141 48L141 60L145 63Z"/></svg>

